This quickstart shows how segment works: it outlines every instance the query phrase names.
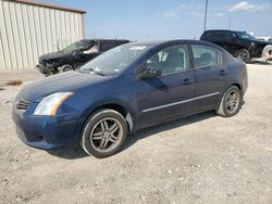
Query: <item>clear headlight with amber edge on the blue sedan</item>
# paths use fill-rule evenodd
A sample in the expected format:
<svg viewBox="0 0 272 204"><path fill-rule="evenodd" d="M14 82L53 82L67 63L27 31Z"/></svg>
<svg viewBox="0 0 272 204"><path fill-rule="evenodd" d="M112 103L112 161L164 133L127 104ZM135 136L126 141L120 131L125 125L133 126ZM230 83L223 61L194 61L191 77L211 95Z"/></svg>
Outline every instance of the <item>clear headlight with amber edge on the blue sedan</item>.
<svg viewBox="0 0 272 204"><path fill-rule="evenodd" d="M44 98L36 107L34 115L54 116L62 102L65 101L72 94L74 93L57 92Z"/></svg>

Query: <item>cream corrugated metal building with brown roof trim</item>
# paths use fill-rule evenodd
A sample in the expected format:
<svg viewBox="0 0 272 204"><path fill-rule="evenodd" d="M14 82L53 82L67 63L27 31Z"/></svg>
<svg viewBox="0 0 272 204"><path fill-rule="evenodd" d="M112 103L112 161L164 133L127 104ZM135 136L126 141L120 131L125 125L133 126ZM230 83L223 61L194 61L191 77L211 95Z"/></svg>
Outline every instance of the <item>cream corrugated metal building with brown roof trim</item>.
<svg viewBox="0 0 272 204"><path fill-rule="evenodd" d="M34 68L38 56L84 38L85 11L0 0L0 69Z"/></svg>

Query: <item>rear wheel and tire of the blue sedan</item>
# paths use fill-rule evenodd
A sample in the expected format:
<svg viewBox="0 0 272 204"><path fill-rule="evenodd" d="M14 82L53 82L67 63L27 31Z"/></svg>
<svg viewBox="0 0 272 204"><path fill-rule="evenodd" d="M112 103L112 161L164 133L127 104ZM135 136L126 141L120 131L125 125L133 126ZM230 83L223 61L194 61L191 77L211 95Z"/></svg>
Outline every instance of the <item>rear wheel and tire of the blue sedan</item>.
<svg viewBox="0 0 272 204"><path fill-rule="evenodd" d="M240 90L236 86L232 86L222 97L217 114L223 117L236 115L240 110L242 99Z"/></svg>

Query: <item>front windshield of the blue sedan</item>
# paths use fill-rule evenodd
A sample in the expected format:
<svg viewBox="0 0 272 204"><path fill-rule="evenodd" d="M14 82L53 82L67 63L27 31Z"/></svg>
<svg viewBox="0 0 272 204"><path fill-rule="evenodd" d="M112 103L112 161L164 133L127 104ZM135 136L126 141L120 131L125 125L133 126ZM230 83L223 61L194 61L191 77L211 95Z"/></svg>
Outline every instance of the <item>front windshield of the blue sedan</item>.
<svg viewBox="0 0 272 204"><path fill-rule="evenodd" d="M124 44L104 52L81 67L81 72L115 75L126 69L150 46Z"/></svg>

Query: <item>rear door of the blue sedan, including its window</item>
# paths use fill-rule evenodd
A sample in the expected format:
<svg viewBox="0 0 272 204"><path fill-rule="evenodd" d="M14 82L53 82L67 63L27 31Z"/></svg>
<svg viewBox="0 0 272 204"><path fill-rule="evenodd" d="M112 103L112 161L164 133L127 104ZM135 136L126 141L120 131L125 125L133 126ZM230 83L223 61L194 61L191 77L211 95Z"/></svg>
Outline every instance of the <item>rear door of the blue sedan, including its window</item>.
<svg viewBox="0 0 272 204"><path fill-rule="evenodd" d="M208 110L215 107L224 90L227 76L227 66L224 63L221 50L191 44L195 67L195 107Z"/></svg>

